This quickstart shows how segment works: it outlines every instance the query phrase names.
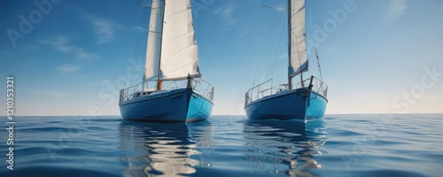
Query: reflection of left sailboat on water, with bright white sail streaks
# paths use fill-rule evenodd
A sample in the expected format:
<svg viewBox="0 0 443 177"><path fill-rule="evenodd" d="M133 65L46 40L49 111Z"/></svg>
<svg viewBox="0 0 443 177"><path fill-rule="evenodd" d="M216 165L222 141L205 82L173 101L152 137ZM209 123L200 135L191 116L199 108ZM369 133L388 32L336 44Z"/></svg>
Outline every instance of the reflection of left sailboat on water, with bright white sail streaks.
<svg viewBox="0 0 443 177"><path fill-rule="evenodd" d="M122 121L119 127L123 176L181 176L193 166L210 166L213 128L210 122L156 124Z"/></svg>

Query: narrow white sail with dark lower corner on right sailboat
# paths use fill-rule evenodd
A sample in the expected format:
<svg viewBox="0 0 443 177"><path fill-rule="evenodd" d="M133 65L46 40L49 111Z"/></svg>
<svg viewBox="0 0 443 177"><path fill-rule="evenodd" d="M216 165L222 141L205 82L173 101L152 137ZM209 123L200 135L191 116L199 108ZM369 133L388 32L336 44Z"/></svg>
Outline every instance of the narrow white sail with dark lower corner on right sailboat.
<svg viewBox="0 0 443 177"><path fill-rule="evenodd" d="M305 31L305 0L289 0L291 4L291 58L289 75L291 77L307 72L307 44Z"/></svg>

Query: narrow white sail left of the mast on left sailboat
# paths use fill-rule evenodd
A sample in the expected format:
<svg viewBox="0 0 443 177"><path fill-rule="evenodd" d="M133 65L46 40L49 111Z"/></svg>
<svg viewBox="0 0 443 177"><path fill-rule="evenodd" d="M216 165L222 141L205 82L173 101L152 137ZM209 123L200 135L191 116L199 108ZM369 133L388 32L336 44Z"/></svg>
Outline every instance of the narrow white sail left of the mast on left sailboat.
<svg viewBox="0 0 443 177"><path fill-rule="evenodd" d="M161 27L163 25L163 4L152 0L151 19L149 23L148 44L146 46L146 62L144 80L157 79L159 74Z"/></svg>

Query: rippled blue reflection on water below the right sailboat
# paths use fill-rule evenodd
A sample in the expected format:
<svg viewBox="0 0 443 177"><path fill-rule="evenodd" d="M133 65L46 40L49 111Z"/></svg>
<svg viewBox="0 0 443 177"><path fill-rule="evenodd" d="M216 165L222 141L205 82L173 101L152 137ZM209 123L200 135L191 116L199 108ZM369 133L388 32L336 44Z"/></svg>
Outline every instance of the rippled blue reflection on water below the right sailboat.
<svg viewBox="0 0 443 177"><path fill-rule="evenodd" d="M322 168L315 160L327 140L323 119L247 120L244 124L245 157L256 173L315 176Z"/></svg>

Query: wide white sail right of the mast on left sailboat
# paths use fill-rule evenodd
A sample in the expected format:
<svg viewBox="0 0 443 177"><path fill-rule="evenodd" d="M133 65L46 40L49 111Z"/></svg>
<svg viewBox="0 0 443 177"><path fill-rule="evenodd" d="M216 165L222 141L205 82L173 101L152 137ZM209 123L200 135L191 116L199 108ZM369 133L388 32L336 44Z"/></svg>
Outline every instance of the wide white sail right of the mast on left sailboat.
<svg viewBox="0 0 443 177"><path fill-rule="evenodd" d="M199 74L190 0L166 0L164 13L160 79L174 80Z"/></svg>

